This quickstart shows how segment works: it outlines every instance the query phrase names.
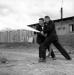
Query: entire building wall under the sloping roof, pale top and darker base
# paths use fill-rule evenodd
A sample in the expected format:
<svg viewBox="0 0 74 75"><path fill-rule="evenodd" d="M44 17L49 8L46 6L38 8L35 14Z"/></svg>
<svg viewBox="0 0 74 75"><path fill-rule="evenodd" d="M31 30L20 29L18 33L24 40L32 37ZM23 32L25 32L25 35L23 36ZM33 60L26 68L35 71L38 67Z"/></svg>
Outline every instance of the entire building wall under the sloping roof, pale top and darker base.
<svg viewBox="0 0 74 75"><path fill-rule="evenodd" d="M60 43L74 48L74 32L71 32L71 24L74 24L74 20L63 21L62 25L61 22L55 23Z"/></svg>

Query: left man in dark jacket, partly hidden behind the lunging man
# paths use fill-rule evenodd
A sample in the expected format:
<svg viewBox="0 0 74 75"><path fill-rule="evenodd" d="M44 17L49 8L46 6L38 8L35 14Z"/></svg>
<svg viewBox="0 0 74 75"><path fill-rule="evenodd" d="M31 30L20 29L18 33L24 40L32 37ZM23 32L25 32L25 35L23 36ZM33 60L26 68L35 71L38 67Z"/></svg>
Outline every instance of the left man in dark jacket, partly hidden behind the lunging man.
<svg viewBox="0 0 74 75"><path fill-rule="evenodd" d="M40 33L37 33L37 43L39 44L39 46L43 43L43 41L45 40L46 36L43 32L43 30L45 29L44 28L45 25L44 25L44 19L43 18L40 18L39 19L39 24L36 26L36 29L40 31ZM48 51L50 52L50 47L48 46ZM55 59L55 54L53 52L53 50L51 49L51 56L53 59ZM42 50L40 50L40 47L39 47L39 61L42 61L43 58L42 58Z"/></svg>

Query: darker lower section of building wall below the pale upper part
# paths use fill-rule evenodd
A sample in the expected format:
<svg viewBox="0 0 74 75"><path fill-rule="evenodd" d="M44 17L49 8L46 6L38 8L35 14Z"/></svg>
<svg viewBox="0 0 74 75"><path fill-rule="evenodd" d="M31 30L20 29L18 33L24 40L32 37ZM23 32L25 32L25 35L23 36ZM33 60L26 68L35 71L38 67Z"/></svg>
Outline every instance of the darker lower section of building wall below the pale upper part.
<svg viewBox="0 0 74 75"><path fill-rule="evenodd" d="M74 48L74 33L59 35L59 41L63 46L70 46Z"/></svg>

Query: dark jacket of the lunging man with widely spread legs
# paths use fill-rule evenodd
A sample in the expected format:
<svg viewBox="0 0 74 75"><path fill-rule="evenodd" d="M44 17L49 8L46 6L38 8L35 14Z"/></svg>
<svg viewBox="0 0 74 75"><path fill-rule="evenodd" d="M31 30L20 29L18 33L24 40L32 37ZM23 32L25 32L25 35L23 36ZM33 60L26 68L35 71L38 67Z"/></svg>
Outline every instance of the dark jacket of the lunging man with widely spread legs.
<svg viewBox="0 0 74 75"><path fill-rule="evenodd" d="M54 39L58 40L56 30L55 30L55 24L53 21L49 21L48 23L45 23L43 31L45 34L47 34L47 37L53 36Z"/></svg>

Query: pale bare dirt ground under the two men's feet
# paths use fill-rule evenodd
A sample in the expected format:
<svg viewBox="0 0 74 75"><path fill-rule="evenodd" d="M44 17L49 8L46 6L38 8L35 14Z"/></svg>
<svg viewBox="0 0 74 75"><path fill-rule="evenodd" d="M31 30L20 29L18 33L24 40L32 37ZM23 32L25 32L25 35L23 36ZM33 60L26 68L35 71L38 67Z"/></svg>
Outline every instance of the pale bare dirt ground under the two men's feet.
<svg viewBox="0 0 74 75"><path fill-rule="evenodd" d="M36 48L0 49L0 57L6 58L6 64L0 63L0 75L74 75L74 55L71 61L55 53L57 60L47 58L46 63L38 63Z"/></svg>

